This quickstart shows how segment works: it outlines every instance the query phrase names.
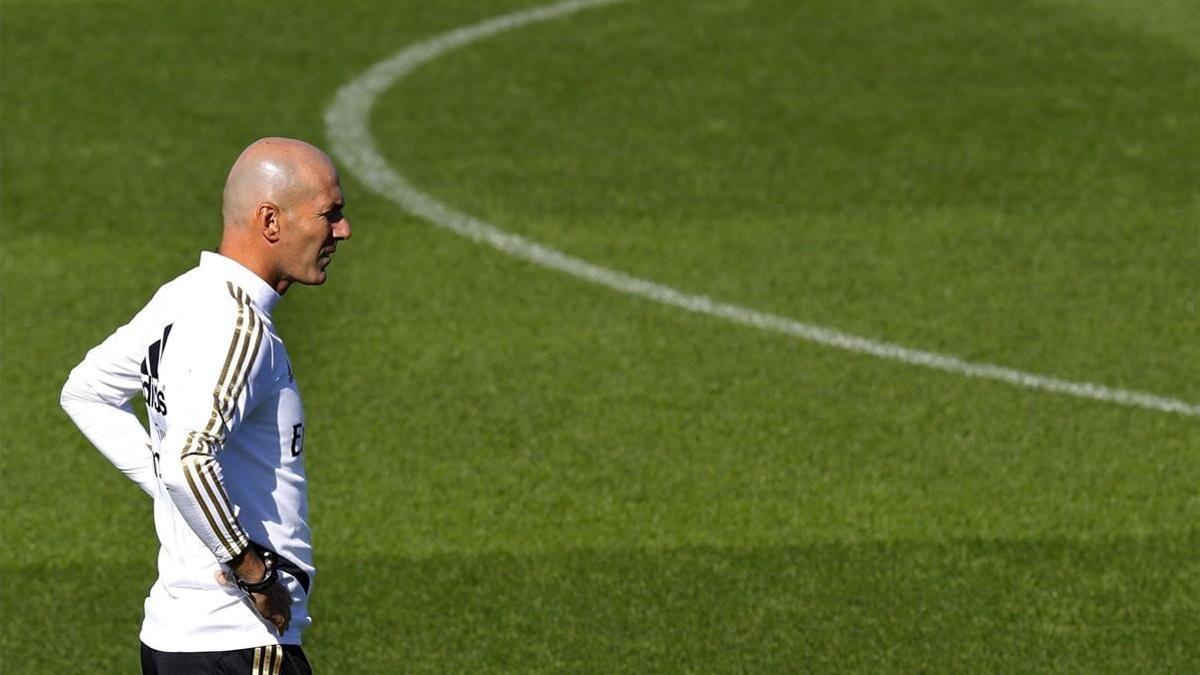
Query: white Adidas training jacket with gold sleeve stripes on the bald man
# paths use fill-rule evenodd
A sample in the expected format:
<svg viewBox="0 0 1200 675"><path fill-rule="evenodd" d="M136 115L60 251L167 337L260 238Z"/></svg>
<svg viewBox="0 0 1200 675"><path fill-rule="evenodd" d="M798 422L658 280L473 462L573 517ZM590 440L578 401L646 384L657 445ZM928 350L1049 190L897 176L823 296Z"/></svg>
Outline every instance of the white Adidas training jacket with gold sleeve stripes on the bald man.
<svg viewBox="0 0 1200 675"><path fill-rule="evenodd" d="M88 352L62 388L80 431L154 497L158 580L142 641L158 651L299 645L312 622L305 417L271 324L278 300L254 273L204 252ZM149 435L130 405L138 393ZM221 583L250 542L278 555L293 602L283 635Z"/></svg>

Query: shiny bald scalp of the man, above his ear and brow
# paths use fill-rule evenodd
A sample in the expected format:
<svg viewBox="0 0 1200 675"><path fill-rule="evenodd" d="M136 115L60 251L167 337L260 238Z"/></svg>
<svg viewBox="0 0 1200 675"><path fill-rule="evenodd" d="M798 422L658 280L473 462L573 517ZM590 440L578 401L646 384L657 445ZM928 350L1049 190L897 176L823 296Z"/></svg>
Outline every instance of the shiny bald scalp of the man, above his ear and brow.
<svg viewBox="0 0 1200 675"><path fill-rule="evenodd" d="M242 150L226 179L221 216L226 232L252 221L258 205L292 208L337 171L329 155L295 138L262 138Z"/></svg>

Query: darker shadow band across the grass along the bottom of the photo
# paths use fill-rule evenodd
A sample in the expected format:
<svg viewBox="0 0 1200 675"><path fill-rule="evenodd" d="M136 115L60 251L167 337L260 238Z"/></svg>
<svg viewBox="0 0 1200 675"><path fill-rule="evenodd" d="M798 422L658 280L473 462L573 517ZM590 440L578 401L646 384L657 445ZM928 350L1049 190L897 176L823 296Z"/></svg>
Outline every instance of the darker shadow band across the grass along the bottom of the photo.
<svg viewBox="0 0 1200 675"><path fill-rule="evenodd" d="M324 673L1183 671L1198 552L1181 534L331 554L306 649ZM133 572L5 568L4 670L136 671Z"/></svg>

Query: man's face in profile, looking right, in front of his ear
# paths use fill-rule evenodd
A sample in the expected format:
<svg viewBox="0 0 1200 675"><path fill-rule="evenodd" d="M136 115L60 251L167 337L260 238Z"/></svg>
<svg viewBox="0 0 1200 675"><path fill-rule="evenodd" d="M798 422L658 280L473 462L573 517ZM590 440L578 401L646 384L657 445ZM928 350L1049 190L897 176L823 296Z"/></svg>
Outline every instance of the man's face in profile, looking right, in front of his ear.
<svg viewBox="0 0 1200 675"><path fill-rule="evenodd" d="M344 207L337 173L332 167L317 172L283 213L278 262L284 279L308 285L325 282L325 267L337 243L350 238Z"/></svg>

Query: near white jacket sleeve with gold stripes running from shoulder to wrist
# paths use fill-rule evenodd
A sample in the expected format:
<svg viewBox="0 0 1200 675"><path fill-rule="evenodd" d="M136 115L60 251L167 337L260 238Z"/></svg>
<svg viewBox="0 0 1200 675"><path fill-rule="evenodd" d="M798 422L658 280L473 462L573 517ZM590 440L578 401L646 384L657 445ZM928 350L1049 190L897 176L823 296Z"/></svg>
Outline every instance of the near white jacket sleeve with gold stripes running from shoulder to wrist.
<svg viewBox="0 0 1200 675"><path fill-rule="evenodd" d="M264 340L262 319L236 287L215 309L174 324L160 360L168 395L161 443L163 485L188 526L221 562L248 538L224 489L216 455L248 412L250 382ZM199 307L198 307L199 310Z"/></svg>

